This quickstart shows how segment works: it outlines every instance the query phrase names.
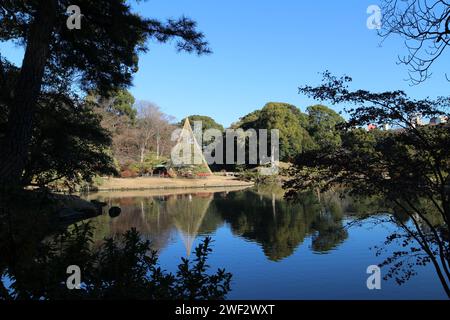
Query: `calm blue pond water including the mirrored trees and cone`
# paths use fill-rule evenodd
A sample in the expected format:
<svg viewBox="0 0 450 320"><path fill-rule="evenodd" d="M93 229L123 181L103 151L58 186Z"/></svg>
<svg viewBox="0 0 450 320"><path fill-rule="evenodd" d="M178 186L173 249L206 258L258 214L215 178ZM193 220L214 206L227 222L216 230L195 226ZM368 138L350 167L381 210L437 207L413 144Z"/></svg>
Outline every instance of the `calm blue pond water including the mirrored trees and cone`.
<svg viewBox="0 0 450 320"><path fill-rule="evenodd" d="M119 217L92 219L95 241L134 227L159 251L167 271L175 272L181 257L212 237L210 266L233 274L228 299L446 299L432 266L419 267L403 285L388 279L381 290L367 289L367 267L383 260L373 247L398 228L380 223L379 215L355 224L378 211L371 202L309 194L291 203L277 187L87 198L122 208Z"/></svg>

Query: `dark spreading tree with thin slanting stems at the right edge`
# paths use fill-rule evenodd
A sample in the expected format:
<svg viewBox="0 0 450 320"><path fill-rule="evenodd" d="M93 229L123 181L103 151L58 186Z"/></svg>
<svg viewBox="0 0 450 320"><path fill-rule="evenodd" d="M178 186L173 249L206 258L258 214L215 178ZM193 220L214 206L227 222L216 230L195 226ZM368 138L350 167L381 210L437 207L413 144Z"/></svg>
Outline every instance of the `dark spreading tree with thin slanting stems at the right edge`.
<svg viewBox="0 0 450 320"><path fill-rule="evenodd" d="M355 107L347 110L349 120L341 126L342 144L297 158L291 172L294 178L286 187L291 196L305 188L339 186L390 201L411 223L394 221L404 232L393 234L387 242L399 241L405 250L384 262L392 266L388 276L404 282L414 274L411 266L431 263L450 297L450 126L414 121L417 114L448 117L450 99L413 100L402 91L352 91L351 80L326 72L322 85L300 88L311 98ZM361 128L369 123L389 123L395 129Z"/></svg>

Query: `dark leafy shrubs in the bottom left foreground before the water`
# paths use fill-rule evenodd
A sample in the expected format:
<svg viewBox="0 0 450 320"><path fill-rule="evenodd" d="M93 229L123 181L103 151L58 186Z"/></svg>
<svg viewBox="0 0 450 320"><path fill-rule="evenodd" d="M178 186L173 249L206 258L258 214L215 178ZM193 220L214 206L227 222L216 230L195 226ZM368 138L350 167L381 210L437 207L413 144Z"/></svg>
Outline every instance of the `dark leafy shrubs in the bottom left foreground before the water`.
<svg viewBox="0 0 450 320"><path fill-rule="evenodd" d="M223 269L208 274L211 251L211 239L206 238L195 249L195 258L182 259L172 274L158 266L157 252L135 229L94 248L92 228L75 225L38 244L26 265L3 270L12 283L0 299L224 299L230 291L231 274ZM80 290L66 287L69 265L81 268Z"/></svg>

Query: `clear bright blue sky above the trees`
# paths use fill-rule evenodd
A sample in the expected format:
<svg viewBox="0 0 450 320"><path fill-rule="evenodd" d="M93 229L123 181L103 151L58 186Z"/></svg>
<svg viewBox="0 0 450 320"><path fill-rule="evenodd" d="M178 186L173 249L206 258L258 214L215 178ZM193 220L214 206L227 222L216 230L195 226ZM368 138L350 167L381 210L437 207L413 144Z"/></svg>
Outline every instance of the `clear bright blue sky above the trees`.
<svg viewBox="0 0 450 320"><path fill-rule="evenodd" d="M410 86L407 68L397 64L398 55L406 53L402 39L380 47L381 39L366 27L372 4L377 1L141 2L134 7L146 17L196 20L214 53L198 57L151 42L130 91L177 119L203 114L225 126L269 101L305 110L315 101L297 88L319 84L325 70L353 77L354 88L403 89L416 98L447 95L450 83L442 70L449 69L448 52L434 66L432 79ZM0 51L20 63L20 51L10 45L0 44Z"/></svg>

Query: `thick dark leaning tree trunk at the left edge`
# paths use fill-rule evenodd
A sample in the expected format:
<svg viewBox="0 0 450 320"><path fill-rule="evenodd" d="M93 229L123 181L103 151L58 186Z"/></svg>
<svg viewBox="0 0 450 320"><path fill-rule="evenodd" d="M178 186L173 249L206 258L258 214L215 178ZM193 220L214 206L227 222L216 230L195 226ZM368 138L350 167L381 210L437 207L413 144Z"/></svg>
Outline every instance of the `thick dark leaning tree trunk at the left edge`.
<svg viewBox="0 0 450 320"><path fill-rule="evenodd" d="M41 0L30 25L27 46L14 88L5 137L0 141L0 185L21 185L33 131L33 118L56 19L56 1Z"/></svg>

